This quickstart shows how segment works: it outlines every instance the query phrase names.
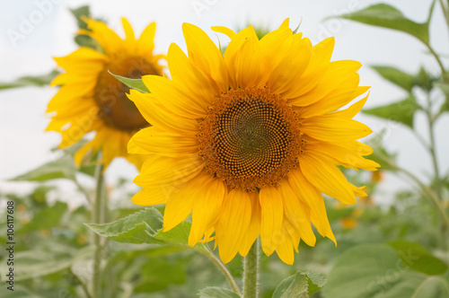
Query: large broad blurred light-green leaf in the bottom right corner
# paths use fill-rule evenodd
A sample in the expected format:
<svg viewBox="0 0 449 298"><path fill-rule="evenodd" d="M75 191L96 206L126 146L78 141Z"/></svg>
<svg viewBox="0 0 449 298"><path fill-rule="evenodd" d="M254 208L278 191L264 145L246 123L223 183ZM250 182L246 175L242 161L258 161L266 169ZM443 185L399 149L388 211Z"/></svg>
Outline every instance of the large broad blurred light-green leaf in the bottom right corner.
<svg viewBox="0 0 449 298"><path fill-rule="evenodd" d="M449 285L443 278L409 270L391 247L365 244L339 257L321 294L324 298L441 298L449 297Z"/></svg>

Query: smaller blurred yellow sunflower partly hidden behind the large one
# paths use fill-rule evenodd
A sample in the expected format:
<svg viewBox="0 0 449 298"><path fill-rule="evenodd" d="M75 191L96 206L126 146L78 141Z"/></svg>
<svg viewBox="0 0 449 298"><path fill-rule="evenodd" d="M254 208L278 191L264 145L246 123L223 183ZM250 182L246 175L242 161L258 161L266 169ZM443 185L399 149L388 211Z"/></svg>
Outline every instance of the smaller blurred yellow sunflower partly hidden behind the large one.
<svg viewBox="0 0 449 298"><path fill-rule="evenodd" d="M161 75L163 67L153 55L155 23L149 24L140 39L126 19L122 19L126 39L121 39L103 22L86 20L89 31L80 34L96 40L99 49L78 48L66 57L56 57L57 66L66 72L57 75L51 85L61 85L48 103L52 113L46 130L61 134L61 148L73 145L85 134L95 131L92 141L76 154L79 164L86 153L101 149L102 162L107 166L114 157L123 156L139 168L145 156L129 155L128 141L149 124L129 101L129 88L110 75L140 78L143 74Z"/></svg>

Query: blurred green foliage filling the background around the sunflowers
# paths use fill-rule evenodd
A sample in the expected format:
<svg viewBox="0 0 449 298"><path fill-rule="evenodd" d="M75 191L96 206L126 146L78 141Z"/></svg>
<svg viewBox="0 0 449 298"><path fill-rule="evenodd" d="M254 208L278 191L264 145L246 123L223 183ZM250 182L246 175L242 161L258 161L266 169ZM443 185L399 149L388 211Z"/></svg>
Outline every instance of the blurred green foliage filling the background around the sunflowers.
<svg viewBox="0 0 449 298"><path fill-rule="evenodd" d="M326 200L338 246L321 237L314 248L301 243L293 266L276 256L262 255L261 297L449 297L449 172L439 169L435 151L436 140L446 136L434 135L434 124L449 111L449 74L428 36L434 10L444 13L449 25L448 4L433 1L427 21L422 23L407 19L388 4L374 4L339 16L407 33L423 43L440 66L438 75L429 74L423 67L417 74L408 74L394 66L373 66L407 95L364 110L368 115L409 127L432 157L429 169L433 170L428 173L432 175L431 183L427 185L414 173L397 166L395 159L400 153L385 150L382 133L373 136L368 140L374 148L370 158L382 164L381 170L344 170L352 183L366 185L368 197L359 198L357 206ZM79 27L85 29L81 16L90 14L88 7L72 12ZM257 29L260 37L266 31L263 27ZM80 46L96 47L85 36L77 35L75 40ZM13 83L1 83L0 89L45 85L56 74L22 77ZM427 136L422 136L415 126L417 113L427 118ZM94 180L96 156L84 160L76 169L73 154L82 142L62 151L53 162L13 179L35 181L36 187L29 194L0 193L2 201L14 201L15 237L20 239L15 246L15 289L2 290L0 297L92 297L95 266L101 268L101 297L238 297L214 264L213 243L187 248L189 220L171 233L161 233L163 206L140 209L106 199L106 223L93 224L95 189L82 186L79 178ZM396 193L389 206L377 206L374 198L382 194L376 187L387 171L408 180L409 188ZM71 208L51 198L54 187L48 181L61 179L74 182L86 197L85 205ZM129 183L119 180L103 186L105 198L114 189L122 194L122 201L129 202L133 195L127 188ZM6 216L0 218L0 238L6 242ZM94 264L92 259L98 249L93 232L102 236L100 264ZM2 259L1 272L5 272L5 264ZM242 286L242 259L237 257L226 267ZM4 279L2 274L3 283Z"/></svg>

